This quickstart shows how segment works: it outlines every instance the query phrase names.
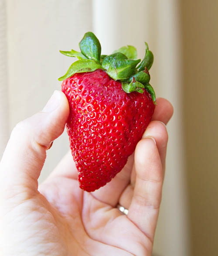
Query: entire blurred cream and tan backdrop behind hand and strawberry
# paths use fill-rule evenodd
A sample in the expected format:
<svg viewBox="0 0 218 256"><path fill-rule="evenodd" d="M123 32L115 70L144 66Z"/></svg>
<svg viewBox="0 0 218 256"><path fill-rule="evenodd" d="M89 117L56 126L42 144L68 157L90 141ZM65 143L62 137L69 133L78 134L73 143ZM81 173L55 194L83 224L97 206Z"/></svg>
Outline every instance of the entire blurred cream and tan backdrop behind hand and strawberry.
<svg viewBox="0 0 218 256"><path fill-rule="evenodd" d="M156 256L218 255L218 1L0 0L0 158L17 122L41 110L93 31L109 54L147 41L156 95L169 99L169 147ZM68 150L58 138L40 181Z"/></svg>

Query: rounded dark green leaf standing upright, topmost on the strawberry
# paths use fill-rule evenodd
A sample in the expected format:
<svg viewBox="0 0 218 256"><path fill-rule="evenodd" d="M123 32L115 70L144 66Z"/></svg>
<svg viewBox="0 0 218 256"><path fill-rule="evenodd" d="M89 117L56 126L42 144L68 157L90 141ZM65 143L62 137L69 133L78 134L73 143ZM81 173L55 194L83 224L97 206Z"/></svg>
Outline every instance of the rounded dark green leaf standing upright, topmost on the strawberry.
<svg viewBox="0 0 218 256"><path fill-rule="evenodd" d="M85 33L79 43L79 47L85 57L100 62L101 44L99 43L99 39L96 38L92 32Z"/></svg>

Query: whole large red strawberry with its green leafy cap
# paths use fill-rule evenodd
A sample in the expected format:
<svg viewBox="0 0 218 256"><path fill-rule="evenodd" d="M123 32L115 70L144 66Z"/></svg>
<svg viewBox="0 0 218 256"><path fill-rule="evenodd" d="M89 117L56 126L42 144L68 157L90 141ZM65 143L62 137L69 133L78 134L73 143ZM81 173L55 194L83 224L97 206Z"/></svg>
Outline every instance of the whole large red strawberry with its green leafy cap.
<svg viewBox="0 0 218 256"><path fill-rule="evenodd" d="M142 61L130 45L101 55L92 32L79 45L81 52L60 51L78 61L59 80L70 107L66 127L80 188L94 191L123 169L150 122L156 104L148 71L153 54L146 44Z"/></svg>

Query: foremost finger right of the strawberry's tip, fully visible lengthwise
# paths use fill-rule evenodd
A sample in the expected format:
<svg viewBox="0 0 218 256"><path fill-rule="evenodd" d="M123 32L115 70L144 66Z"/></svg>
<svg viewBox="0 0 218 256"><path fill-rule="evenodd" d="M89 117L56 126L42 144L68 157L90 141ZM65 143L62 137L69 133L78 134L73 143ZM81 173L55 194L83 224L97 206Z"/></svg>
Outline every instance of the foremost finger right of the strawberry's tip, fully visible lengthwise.
<svg viewBox="0 0 218 256"><path fill-rule="evenodd" d="M135 167L136 184L128 218L153 242L163 185L162 164L153 138L138 143Z"/></svg>

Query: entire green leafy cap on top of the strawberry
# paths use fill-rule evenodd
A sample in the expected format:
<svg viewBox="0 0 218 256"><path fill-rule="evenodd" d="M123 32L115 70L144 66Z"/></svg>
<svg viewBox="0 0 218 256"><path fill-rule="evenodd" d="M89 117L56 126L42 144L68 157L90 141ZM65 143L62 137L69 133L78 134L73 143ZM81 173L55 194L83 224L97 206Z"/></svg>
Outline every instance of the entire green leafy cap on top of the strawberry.
<svg viewBox="0 0 218 256"><path fill-rule="evenodd" d="M63 81L75 73L93 72L96 69L104 70L112 79L122 83L126 93L143 93L144 89L150 93L153 103L156 104L155 92L150 85L148 70L153 64L153 53L145 42L146 51L143 60L137 59L136 48L127 45L114 51L111 55L101 55L101 44L92 32L85 33L79 43L81 52L60 51L68 57L76 57L75 61L58 80ZM137 66L138 65L138 66Z"/></svg>

